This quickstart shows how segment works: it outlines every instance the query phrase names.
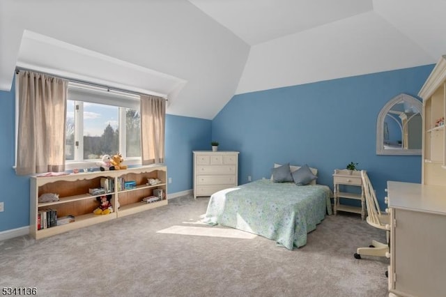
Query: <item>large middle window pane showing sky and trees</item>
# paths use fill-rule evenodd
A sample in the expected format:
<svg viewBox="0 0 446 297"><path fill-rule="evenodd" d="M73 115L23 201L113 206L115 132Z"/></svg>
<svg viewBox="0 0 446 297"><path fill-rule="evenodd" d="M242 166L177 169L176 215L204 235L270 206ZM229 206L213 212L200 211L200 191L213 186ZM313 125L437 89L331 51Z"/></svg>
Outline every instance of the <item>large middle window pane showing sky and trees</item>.
<svg viewBox="0 0 446 297"><path fill-rule="evenodd" d="M119 150L118 107L84 102L84 160Z"/></svg>

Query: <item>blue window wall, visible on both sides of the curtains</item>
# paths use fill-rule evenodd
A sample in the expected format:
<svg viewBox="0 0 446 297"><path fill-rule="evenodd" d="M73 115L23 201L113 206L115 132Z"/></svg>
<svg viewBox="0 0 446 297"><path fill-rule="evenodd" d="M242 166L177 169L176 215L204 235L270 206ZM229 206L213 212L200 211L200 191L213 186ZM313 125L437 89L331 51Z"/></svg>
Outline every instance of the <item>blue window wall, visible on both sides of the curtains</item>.
<svg viewBox="0 0 446 297"><path fill-rule="evenodd" d="M14 89L14 86L13 86ZM29 177L17 176L15 165L15 92L0 91L0 232L29 225ZM211 121L185 116L166 117L166 165L172 178L168 193L192 189L192 151L210 146Z"/></svg>

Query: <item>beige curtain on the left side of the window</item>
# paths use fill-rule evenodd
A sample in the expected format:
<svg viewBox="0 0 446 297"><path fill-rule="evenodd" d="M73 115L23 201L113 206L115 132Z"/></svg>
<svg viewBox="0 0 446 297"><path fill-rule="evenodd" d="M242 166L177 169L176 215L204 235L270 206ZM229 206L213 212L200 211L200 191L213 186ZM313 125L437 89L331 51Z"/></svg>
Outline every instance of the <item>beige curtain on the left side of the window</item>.
<svg viewBox="0 0 446 297"><path fill-rule="evenodd" d="M20 71L18 84L16 172L62 172L67 83L56 77Z"/></svg>

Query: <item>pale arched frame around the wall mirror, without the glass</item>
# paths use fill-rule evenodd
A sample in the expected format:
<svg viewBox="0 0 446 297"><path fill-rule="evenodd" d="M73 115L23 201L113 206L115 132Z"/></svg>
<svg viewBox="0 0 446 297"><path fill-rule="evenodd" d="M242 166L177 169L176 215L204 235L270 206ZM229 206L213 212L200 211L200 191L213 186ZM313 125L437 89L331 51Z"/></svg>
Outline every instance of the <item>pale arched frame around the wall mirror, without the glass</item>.
<svg viewBox="0 0 446 297"><path fill-rule="evenodd" d="M400 102L401 100L404 100L406 102L409 102L411 105L417 107L418 110L420 110L420 114L423 117L422 114L422 102L420 100L417 100L417 98L414 98L407 94L399 94L398 96L392 98L389 102L387 102L386 105L384 105L383 109L381 109L378 120L376 121L376 155L421 155L422 150L421 149L391 149L391 148L384 148L384 118L386 114L392 109L392 107Z"/></svg>

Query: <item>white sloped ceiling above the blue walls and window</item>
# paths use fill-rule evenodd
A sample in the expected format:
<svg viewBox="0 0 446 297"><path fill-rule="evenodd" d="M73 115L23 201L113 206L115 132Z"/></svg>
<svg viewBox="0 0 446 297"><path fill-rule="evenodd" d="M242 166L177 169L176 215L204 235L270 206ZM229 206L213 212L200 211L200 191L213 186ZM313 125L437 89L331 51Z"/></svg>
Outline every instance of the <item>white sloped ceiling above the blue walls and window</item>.
<svg viewBox="0 0 446 297"><path fill-rule="evenodd" d="M445 15L445 0L1 0L0 89L18 65L213 119L236 93L436 63Z"/></svg>

